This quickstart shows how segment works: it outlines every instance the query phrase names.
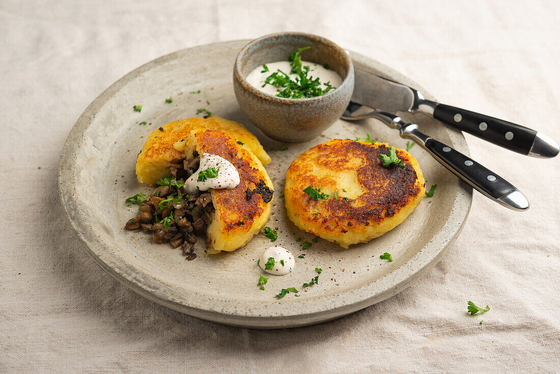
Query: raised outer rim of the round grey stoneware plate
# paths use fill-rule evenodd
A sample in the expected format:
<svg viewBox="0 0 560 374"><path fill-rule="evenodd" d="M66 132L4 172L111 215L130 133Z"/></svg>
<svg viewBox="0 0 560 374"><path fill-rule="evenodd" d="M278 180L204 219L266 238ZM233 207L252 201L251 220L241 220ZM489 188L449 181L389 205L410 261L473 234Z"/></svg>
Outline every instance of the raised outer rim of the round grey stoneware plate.
<svg viewBox="0 0 560 374"><path fill-rule="evenodd" d="M180 58L186 53L197 53L198 51L204 51L212 48L221 48L226 47L227 45L232 45L235 43L249 43L250 39L243 39L243 40L231 40L231 41L222 41L220 43L211 43L211 44L203 44L198 45L196 47L184 48L177 50L175 52L166 54L164 56L158 57L153 59L150 62L147 62L138 68L130 71L113 84L111 84L107 89L105 89L97 98L95 98L88 107L84 110L84 112L80 115L72 130L69 132L69 135L64 142L64 147L62 150L62 154L60 156L60 164L58 170L58 184L59 184L59 196L60 201L64 207L64 211L70 221L74 233L80 239L83 247L85 247L86 252L90 257L94 259L97 265L101 267L101 269L105 270L109 275L113 276L116 280L120 283L124 284L129 289L132 289L134 292L141 294L143 297L150 299L151 301L157 302L162 304L166 307L169 307L173 310L186 313L188 315L202 318L204 320L210 320L214 322L218 322L221 324L233 325L233 326L242 326L242 327L258 327L264 329L274 329L274 328L284 328L284 327L297 327L297 326L305 326L316 324L320 322L325 322L329 320L333 320L338 317L342 317L344 315L348 315L349 313L356 312L361 310L367 306L371 306L377 302L383 301L386 298L393 296L394 294L402 291L403 289L407 288L410 284L420 278L424 273L430 270L437 262L439 262L442 256L445 255L447 250L449 250L449 246L452 242L455 241L456 237L459 236L463 226L465 224L466 219L468 218L470 208L472 207L473 201L473 190L465 183L459 182L460 188L458 188L458 192L455 195L453 204L451 206L450 214L447 216L445 222L442 225L442 229L440 229L434 237L432 237L432 241L428 242L422 248L420 248L412 258L410 258L407 262L403 263L398 268L391 271L391 273L386 274L380 279L383 279L387 276L393 276L395 278L395 283L388 288L382 289L380 292L371 292L372 285L374 285L380 279L377 279L373 282L367 283L360 287L353 288L351 290L345 290L340 293L335 294L328 294L328 295L320 295L318 298L325 300L331 299L332 302L329 303L330 307L320 308L319 310L315 310L312 312L306 313L292 313L288 315L276 314L276 315L269 315L269 316L255 316L255 315L248 315L247 313L243 313L242 310L238 310L235 308L230 308L230 310L211 310L209 308L203 307L200 305L188 305L185 302L179 302L178 300L174 300L161 292L162 287L157 287L156 285L151 285L148 287L146 284L139 282L130 274L125 272L127 268L127 264L115 264L115 262L122 261L117 256L114 256L113 261L108 261L105 258L104 253L100 253L100 248L104 247L103 244L100 244L99 239L97 238L97 233L93 232L94 235L91 235L91 232L88 232L87 225L84 224L83 221L79 219L77 215L78 206L76 201L72 198L73 192L75 192L75 186L72 183L74 181L75 169L71 167L73 164L73 156L76 155L78 148L80 147L80 140L85 135L86 131L89 128L93 118L95 118L96 110L101 108L102 105L108 101L111 96L113 96L121 87L128 83L128 81L134 79L134 77L142 75L142 73L151 70L152 67L156 67L161 63L165 63L167 61L172 61L173 59ZM358 61L360 63L365 64L366 66L377 66L384 70L386 74L389 76L397 77L398 81L408 84L410 86L414 86L418 90L422 91L422 93L426 96L427 99L435 100L433 96L428 93L425 89L419 86L416 82L410 80L408 77L402 75L392 68L385 66L382 63L375 61L374 59L368 58L356 52L349 51L349 54L353 61ZM381 74L383 75L383 74ZM465 137L463 133L458 130L454 130L445 126L446 132L450 136L452 145L458 147L463 153L468 154L468 145L466 144ZM462 193L461 193L462 192ZM462 204L463 207L459 209L458 205ZM466 204L466 206L465 206ZM409 275L403 276L402 273L403 267L407 266L411 262L416 262L414 259L418 256L419 253L431 247L430 244L433 242L433 238L436 238L442 232L444 232L444 228L450 224L451 221L459 221L459 225L455 225L454 233L451 235L447 235L443 242L439 242L442 244L441 249L437 251L435 256L431 257L429 261L425 262L422 266L415 267L414 271ZM100 248L98 248L100 247ZM115 266L120 265L120 266ZM401 271L399 271L401 270ZM165 284L161 281L153 279L155 283L164 286ZM370 289L368 292L367 297L363 297L363 291L366 289ZM360 291L360 292L358 292ZM352 295L353 293L360 293L361 295L357 297L356 295ZM312 299L314 300L314 299ZM348 300L350 300L348 302ZM229 301L227 301L229 302ZM245 301L246 302L246 301ZM269 303L267 305L279 305L280 302L277 301L275 303Z"/></svg>

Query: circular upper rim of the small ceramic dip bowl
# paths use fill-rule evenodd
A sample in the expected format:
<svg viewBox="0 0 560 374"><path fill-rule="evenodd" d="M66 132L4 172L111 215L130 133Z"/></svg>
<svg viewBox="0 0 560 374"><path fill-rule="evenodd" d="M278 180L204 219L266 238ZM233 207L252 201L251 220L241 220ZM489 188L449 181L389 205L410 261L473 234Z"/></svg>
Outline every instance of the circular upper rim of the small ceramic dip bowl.
<svg viewBox="0 0 560 374"><path fill-rule="evenodd" d="M244 60L244 57L246 57L246 53L248 52L249 48L253 47L258 43L262 43L263 40L278 38L278 36L283 36L283 35L305 36L306 38L316 39L315 41L319 41L320 43L329 45L329 47L331 48L338 49L339 52L341 52L342 55L346 58L346 62L348 64L348 72L346 73L346 77L342 80L340 85L338 85L334 90L329 91L326 94L314 96L312 98L298 98L298 99L281 98L280 96L267 94L257 89L253 85L251 85L245 79L245 76L241 72L241 62ZM338 45L337 43L334 43L334 41L324 38L324 36L310 34L310 33L302 33L298 31L283 31L281 33L263 35L260 36L259 38L253 39L249 43L247 43L243 48L241 48L239 53L237 53L237 56L235 58L235 63L234 63L234 81L239 82L239 84L243 87L244 90L249 91L253 95L259 96L260 98L266 100L278 100L279 102L286 103L286 104L296 104L296 103L308 104L314 101L321 101L324 100L325 98L330 98L334 95L338 95L338 93L342 91L345 86L351 84L351 81L353 80L354 80L354 64L352 63L352 59L350 58L350 55L344 48L340 47L340 45Z"/></svg>

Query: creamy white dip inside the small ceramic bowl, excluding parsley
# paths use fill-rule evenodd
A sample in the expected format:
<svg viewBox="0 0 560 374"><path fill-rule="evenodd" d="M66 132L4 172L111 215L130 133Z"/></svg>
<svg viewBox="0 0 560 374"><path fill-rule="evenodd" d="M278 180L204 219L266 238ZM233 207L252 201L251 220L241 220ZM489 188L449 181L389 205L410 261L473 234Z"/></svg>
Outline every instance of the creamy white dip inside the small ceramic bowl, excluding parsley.
<svg viewBox="0 0 560 374"><path fill-rule="evenodd" d="M267 63L265 65L268 67L268 71L264 73L262 72L264 70L263 65L259 65L249 73L249 75L247 76L247 81L249 82L249 84L251 84L251 86L255 87L259 91L263 91L264 93L276 96L276 94L278 93L278 89L280 89L281 87L276 87L269 84L263 87L264 81L270 74L278 72L278 69L282 70L284 73L290 76L293 81L295 81L296 78L299 77L297 76L297 74L290 73L290 71L292 70L290 64L291 63L289 61ZM325 83L330 82L330 85L333 87L338 87L342 83L342 79L337 74L337 72L325 69L323 66L321 66L321 64L302 61L301 66L309 66L307 77L312 77L312 79L316 79L317 77L319 77L319 82L321 82L320 87L323 90L327 87Z"/></svg>

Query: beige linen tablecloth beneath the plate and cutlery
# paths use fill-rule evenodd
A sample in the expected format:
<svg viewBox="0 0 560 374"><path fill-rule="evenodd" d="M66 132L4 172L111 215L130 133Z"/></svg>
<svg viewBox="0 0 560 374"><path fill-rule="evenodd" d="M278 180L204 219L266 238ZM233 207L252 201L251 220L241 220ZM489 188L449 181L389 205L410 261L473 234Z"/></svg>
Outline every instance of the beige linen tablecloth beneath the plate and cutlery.
<svg viewBox="0 0 560 374"><path fill-rule="evenodd" d="M274 31L326 36L445 103L560 141L560 3L453 3L0 0L0 372L559 372L560 158L468 136L531 209L475 194L463 233L412 287L292 330L147 301L86 256L60 207L64 140L106 87L175 50ZM468 300L492 309L472 317Z"/></svg>

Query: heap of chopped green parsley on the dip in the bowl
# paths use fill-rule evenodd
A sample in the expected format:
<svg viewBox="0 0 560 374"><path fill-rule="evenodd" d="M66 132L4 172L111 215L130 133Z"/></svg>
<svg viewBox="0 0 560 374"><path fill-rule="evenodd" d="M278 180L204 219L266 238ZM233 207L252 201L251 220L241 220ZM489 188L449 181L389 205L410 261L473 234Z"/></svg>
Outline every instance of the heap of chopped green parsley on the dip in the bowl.
<svg viewBox="0 0 560 374"><path fill-rule="evenodd" d="M311 76L307 76L310 68L301 65L300 53L309 48L311 47L300 48L288 57L291 67L290 73L297 75L295 79L278 69L265 79L263 87L267 84L275 86L278 88L276 96L292 99L313 98L334 90L335 87L331 86L330 82L324 84L325 89L323 90L318 77L312 79Z"/></svg>

